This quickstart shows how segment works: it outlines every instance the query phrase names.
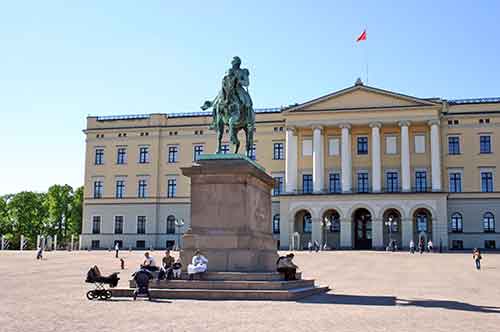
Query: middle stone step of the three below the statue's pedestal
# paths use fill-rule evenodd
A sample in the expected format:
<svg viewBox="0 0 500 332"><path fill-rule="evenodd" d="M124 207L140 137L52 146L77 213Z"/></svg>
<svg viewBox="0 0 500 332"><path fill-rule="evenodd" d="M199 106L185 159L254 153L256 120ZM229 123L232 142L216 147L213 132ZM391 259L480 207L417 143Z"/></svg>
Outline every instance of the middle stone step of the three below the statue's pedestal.
<svg viewBox="0 0 500 332"><path fill-rule="evenodd" d="M151 289L239 289L239 290L284 290L314 286L314 280L291 281L222 281L222 280L153 280ZM130 280L130 288L135 281Z"/></svg>

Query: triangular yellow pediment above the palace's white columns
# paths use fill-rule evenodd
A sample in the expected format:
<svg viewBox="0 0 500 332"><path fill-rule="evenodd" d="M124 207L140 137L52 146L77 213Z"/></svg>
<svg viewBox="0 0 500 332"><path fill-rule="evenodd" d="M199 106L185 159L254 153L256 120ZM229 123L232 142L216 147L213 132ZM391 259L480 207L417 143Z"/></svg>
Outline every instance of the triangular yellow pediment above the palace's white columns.
<svg viewBox="0 0 500 332"><path fill-rule="evenodd" d="M287 111L379 109L435 105L436 103L426 99L415 98L358 84L353 87L313 99L303 104L293 106Z"/></svg>

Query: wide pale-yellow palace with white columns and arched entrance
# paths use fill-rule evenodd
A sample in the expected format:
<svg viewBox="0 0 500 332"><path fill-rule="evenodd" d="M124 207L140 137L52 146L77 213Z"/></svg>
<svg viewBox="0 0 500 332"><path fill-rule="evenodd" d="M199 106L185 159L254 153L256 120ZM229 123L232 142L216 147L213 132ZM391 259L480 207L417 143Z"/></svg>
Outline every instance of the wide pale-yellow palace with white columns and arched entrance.
<svg viewBox="0 0 500 332"><path fill-rule="evenodd" d="M256 113L250 157L275 179L281 249L500 247L500 98L417 98L358 80ZM81 247L176 247L190 225L180 169L215 151L210 123L211 112L88 117Z"/></svg>

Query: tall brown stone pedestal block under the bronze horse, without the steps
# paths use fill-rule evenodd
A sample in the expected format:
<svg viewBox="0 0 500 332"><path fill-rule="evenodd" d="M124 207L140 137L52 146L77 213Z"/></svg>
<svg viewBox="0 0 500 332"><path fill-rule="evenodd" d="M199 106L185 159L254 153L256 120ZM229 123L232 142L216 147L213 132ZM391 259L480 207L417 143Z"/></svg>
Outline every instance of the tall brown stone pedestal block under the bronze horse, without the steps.
<svg viewBox="0 0 500 332"><path fill-rule="evenodd" d="M191 228L180 253L184 268L200 249L211 272L276 271L274 181L264 169L242 155L203 155L182 173L191 179Z"/></svg>

